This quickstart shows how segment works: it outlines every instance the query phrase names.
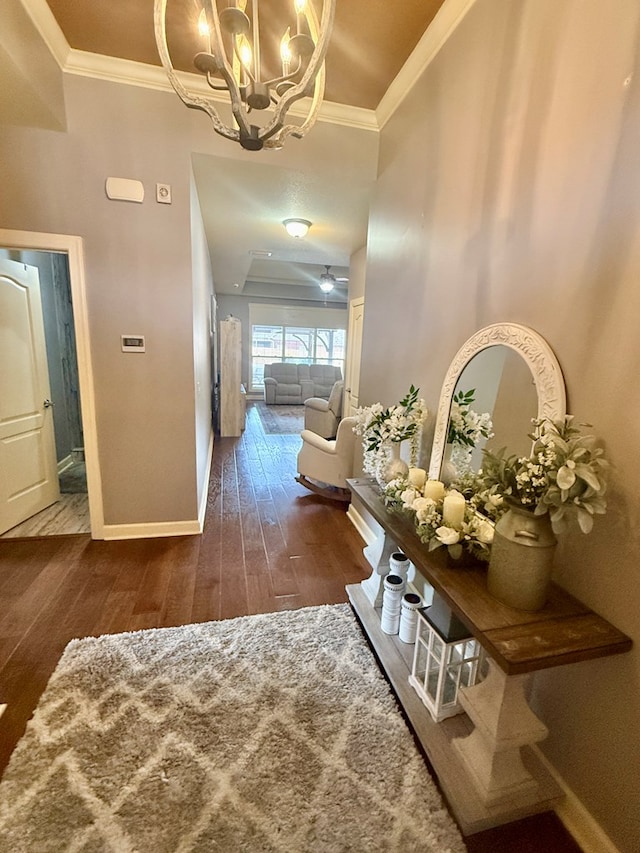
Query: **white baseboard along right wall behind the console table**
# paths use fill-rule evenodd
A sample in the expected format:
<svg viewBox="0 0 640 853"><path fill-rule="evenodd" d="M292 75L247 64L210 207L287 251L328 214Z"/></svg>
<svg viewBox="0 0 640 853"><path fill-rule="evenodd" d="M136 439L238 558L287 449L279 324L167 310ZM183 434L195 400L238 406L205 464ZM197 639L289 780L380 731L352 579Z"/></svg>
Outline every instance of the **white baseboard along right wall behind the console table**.
<svg viewBox="0 0 640 853"><path fill-rule="evenodd" d="M347 517L367 545L371 545L376 540L377 533L369 526L364 517L354 507L353 503L349 504ZM416 591L419 594L423 592L422 590ZM571 833L584 853L620 853L613 841L611 841L593 815L590 814L568 787L540 748L534 745L531 749L535 752L536 757L545 766L556 784L562 789L565 797L560 805L556 806L556 814L562 821L567 832Z"/></svg>

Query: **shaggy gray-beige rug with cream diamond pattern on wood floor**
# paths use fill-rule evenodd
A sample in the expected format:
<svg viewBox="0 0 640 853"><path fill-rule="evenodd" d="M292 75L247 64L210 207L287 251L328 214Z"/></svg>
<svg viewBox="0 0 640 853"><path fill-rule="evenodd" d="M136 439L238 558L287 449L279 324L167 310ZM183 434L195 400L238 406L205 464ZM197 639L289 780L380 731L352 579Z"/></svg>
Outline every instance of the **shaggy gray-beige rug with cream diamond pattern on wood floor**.
<svg viewBox="0 0 640 853"><path fill-rule="evenodd" d="M73 640L0 850L462 853L348 605Z"/></svg>

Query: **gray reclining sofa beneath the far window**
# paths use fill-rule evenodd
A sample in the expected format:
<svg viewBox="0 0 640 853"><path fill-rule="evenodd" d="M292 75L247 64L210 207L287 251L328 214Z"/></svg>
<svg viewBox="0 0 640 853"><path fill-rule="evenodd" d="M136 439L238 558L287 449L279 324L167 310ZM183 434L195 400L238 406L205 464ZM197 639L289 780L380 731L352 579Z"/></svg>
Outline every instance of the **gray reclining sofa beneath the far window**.
<svg viewBox="0 0 640 853"><path fill-rule="evenodd" d="M285 364L264 366L264 400L267 405L302 405L309 397L329 399L342 371L331 364Z"/></svg>

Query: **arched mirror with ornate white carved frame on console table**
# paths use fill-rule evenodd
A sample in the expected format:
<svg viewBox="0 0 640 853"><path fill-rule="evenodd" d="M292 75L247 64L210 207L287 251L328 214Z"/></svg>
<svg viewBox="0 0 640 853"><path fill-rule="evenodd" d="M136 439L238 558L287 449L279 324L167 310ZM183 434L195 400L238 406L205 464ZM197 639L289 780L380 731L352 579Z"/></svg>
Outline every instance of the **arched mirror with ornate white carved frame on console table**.
<svg viewBox="0 0 640 853"><path fill-rule="evenodd" d="M473 392L474 412L487 416L492 433L469 449L476 470L485 445L526 455L532 419L566 414L562 370L544 338L516 323L485 326L460 347L442 383L429 463L432 480L441 479L454 397L468 392Z"/></svg>

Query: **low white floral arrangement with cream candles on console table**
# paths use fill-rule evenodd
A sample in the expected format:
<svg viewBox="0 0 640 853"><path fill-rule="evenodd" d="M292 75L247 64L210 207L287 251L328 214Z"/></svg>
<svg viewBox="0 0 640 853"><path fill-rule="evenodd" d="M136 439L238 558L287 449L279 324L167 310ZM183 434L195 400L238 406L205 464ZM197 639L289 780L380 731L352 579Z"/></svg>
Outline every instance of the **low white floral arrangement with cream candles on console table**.
<svg viewBox="0 0 640 853"><path fill-rule="evenodd" d="M489 559L494 526L456 489L445 489L433 480L420 488L409 479L397 478L385 487L384 502L413 520L420 541L429 551L445 547L454 560L464 551L482 561Z"/></svg>

